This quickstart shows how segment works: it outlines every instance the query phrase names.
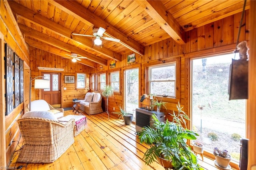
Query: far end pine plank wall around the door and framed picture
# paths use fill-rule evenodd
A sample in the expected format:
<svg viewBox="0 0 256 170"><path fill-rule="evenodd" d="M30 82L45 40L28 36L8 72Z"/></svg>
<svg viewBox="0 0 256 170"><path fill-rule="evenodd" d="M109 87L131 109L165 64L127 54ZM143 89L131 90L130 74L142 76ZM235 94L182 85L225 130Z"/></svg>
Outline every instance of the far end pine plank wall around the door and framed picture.
<svg viewBox="0 0 256 170"><path fill-rule="evenodd" d="M90 74L89 67L78 62L74 63L70 59L62 58L58 55L37 49L35 47L29 47L31 54L30 57L30 67L31 67L31 77L36 77L41 75L41 72L53 72L61 73L61 93L62 93L62 103L61 107L72 107L72 99L84 97L88 92L87 87L89 87ZM50 67L50 68L61 68L64 71L46 71L38 70L38 67ZM64 75L73 75L76 73L86 74L86 88L76 89L76 83L64 83ZM64 90L66 87L66 90ZM34 81L32 82L32 95L31 101L41 99L40 89L34 89Z"/></svg>

